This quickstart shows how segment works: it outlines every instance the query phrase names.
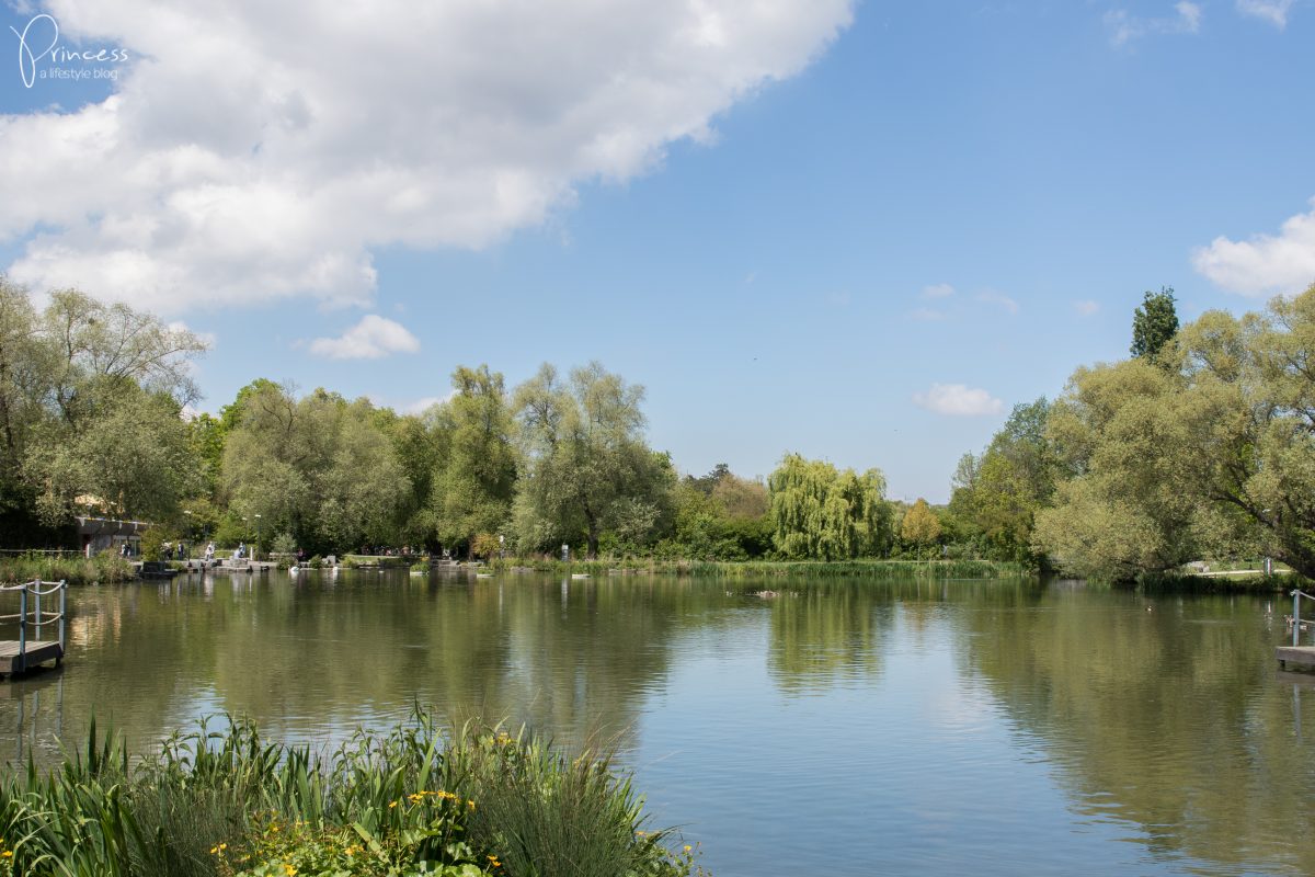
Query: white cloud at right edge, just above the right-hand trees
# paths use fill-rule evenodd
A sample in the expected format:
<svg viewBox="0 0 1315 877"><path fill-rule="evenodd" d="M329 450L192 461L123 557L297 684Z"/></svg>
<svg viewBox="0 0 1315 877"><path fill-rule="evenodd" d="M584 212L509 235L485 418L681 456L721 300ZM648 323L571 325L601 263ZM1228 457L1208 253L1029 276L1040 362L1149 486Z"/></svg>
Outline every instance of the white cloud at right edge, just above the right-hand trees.
<svg viewBox="0 0 1315 877"><path fill-rule="evenodd" d="M1230 292L1301 292L1315 283L1315 199L1311 208L1283 222L1277 235L1257 234L1249 241L1220 235L1193 251L1191 266Z"/></svg>

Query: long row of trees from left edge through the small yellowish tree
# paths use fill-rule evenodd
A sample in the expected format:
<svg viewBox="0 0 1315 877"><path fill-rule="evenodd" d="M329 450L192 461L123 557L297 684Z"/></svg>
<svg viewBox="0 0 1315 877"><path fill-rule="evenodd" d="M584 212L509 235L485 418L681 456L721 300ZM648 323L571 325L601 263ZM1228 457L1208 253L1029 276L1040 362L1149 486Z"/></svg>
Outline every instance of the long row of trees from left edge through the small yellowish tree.
<svg viewBox="0 0 1315 877"><path fill-rule="evenodd" d="M839 560L926 554L939 535L876 468L788 454L765 481L725 464L681 476L647 443L643 388L598 363L515 388L462 366L421 414L268 379L193 414L205 348L72 289L38 310L0 280L0 539L67 543L79 514L308 554Z"/></svg>

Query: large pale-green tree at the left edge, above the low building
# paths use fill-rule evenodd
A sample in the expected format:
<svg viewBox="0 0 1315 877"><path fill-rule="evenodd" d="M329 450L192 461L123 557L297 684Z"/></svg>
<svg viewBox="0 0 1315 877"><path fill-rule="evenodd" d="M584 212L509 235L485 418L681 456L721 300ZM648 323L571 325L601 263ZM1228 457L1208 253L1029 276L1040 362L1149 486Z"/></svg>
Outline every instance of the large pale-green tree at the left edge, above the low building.
<svg viewBox="0 0 1315 877"><path fill-rule="evenodd" d="M181 413L204 342L74 289L50 298L37 316L0 281L0 492L46 525L92 494L121 515L174 514L200 469Z"/></svg>

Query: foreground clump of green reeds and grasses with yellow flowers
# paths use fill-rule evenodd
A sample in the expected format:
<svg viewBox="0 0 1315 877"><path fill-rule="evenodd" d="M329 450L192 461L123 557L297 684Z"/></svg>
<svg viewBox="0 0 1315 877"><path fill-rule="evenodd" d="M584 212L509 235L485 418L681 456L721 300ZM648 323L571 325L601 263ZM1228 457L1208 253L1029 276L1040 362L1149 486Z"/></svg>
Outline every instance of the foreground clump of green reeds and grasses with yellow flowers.
<svg viewBox="0 0 1315 877"><path fill-rule="evenodd" d="M426 714L320 756L249 722L130 759L117 738L0 778L0 874L680 877L608 756Z"/></svg>

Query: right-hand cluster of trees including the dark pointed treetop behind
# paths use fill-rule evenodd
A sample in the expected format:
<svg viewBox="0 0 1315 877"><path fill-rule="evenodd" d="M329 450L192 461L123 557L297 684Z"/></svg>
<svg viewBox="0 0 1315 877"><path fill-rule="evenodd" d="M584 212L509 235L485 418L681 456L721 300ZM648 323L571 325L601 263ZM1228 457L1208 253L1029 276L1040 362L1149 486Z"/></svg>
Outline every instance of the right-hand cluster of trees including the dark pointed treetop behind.
<svg viewBox="0 0 1315 877"><path fill-rule="evenodd" d="M959 539L1106 580L1272 556L1315 577L1315 285L1180 326L1147 292L1131 356L1014 408L959 464Z"/></svg>

